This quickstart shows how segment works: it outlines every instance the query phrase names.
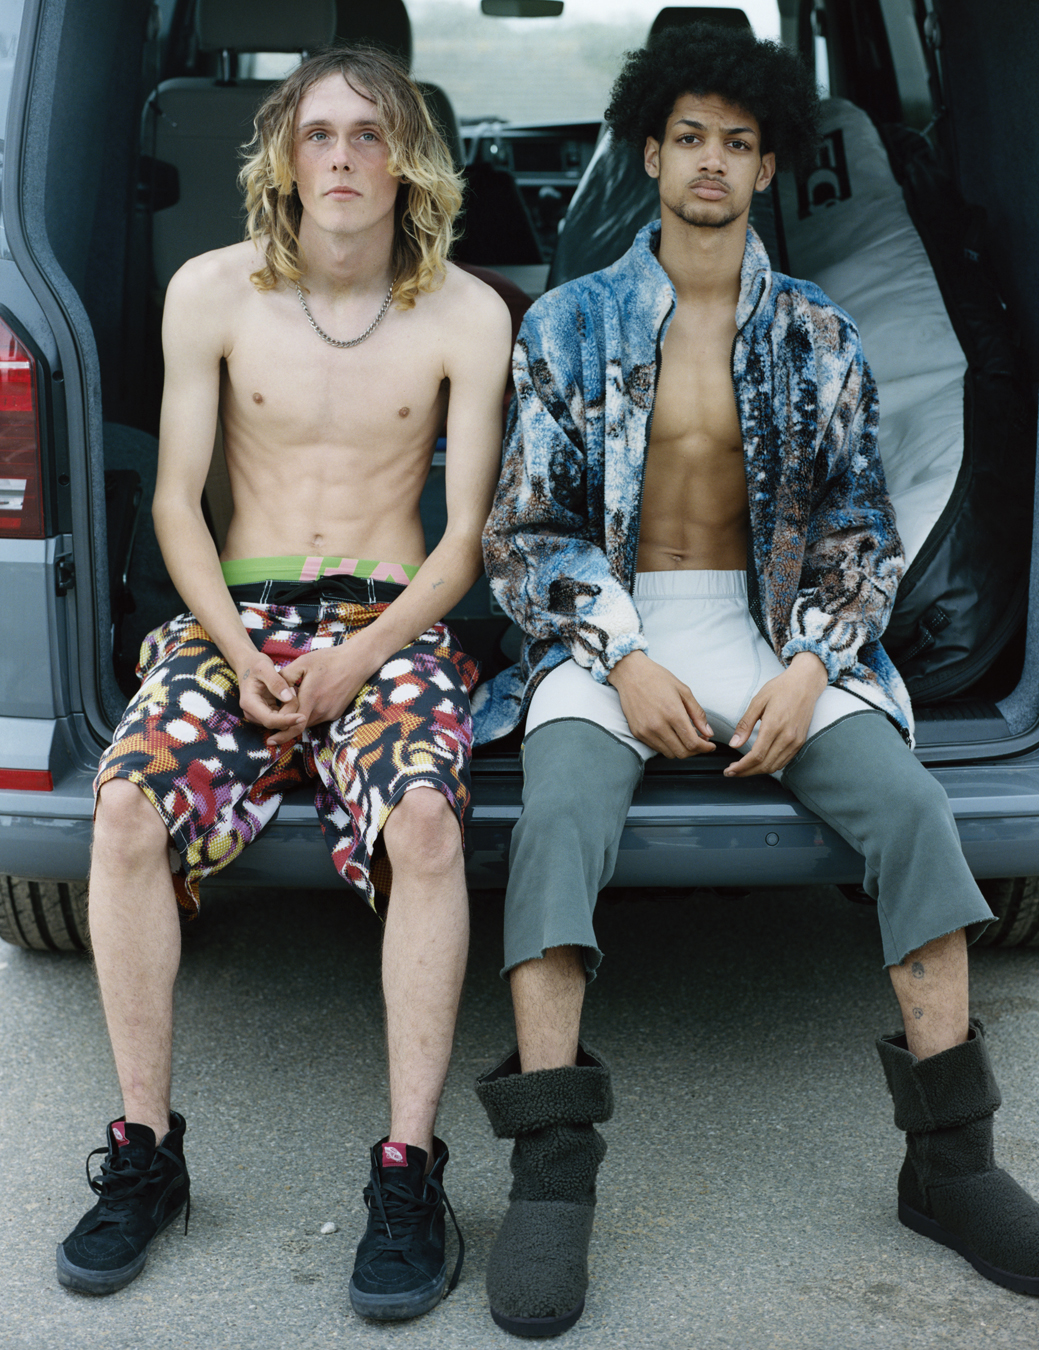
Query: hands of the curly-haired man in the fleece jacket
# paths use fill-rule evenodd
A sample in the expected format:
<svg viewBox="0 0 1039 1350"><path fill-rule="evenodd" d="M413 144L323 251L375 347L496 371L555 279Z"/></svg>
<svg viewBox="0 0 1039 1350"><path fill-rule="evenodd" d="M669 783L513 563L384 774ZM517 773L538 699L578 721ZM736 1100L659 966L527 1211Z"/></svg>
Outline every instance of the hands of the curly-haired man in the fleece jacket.
<svg viewBox="0 0 1039 1350"><path fill-rule="evenodd" d="M610 671L631 734L667 759L710 755L715 745L707 714L692 690L645 652L630 652ZM775 774L804 745L812 713L826 688L826 667L799 652L781 675L754 694L729 744L738 749L760 722L753 749L725 770L726 778Z"/></svg>

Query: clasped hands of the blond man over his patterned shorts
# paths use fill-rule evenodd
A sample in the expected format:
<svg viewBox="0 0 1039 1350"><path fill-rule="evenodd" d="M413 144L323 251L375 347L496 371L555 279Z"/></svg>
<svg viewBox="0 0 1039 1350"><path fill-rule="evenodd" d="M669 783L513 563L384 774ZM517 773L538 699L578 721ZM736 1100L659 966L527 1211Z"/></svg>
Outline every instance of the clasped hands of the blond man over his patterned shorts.
<svg viewBox="0 0 1039 1350"><path fill-rule="evenodd" d="M356 637L305 652L281 670L256 652L236 671L242 716L267 728L267 745L279 749L304 728L341 717L378 664Z"/></svg>

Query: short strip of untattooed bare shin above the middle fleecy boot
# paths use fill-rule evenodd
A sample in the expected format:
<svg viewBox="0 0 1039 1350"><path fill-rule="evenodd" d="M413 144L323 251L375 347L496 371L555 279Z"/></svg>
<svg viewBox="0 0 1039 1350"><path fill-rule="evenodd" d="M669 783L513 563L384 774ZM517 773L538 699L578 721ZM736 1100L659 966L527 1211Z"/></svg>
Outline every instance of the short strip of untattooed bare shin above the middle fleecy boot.
<svg viewBox="0 0 1039 1350"><path fill-rule="evenodd" d="M587 977L576 946L551 946L537 961L509 972L515 1037L524 1073L578 1062Z"/></svg>

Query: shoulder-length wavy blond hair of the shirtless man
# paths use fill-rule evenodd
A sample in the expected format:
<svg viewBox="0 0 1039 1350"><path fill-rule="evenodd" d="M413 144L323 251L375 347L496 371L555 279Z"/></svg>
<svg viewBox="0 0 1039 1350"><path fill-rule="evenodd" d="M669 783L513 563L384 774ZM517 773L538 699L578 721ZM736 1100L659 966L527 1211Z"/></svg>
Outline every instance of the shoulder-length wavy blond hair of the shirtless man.
<svg viewBox="0 0 1039 1350"><path fill-rule="evenodd" d="M300 219L302 204L293 169L296 111L300 100L329 74L371 99L389 146L387 169L406 180L397 194L393 266L398 309L412 309L422 292L443 285L447 256L461 207L460 176L429 115L418 85L393 57L375 47L329 47L287 76L254 117L254 136L242 147L239 186L246 193L247 236L263 251L252 273L258 290L302 278Z"/></svg>

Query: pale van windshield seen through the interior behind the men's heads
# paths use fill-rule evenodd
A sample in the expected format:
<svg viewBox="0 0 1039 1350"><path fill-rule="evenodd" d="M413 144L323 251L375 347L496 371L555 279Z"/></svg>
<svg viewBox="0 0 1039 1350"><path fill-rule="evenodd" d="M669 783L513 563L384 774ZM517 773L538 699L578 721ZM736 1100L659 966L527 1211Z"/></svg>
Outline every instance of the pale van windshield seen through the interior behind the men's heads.
<svg viewBox="0 0 1039 1350"><path fill-rule="evenodd" d="M494 19L480 0L409 0L416 80L440 85L463 122L599 120L625 51L661 4L565 0L559 19ZM734 0L758 38L779 39L776 0Z"/></svg>

